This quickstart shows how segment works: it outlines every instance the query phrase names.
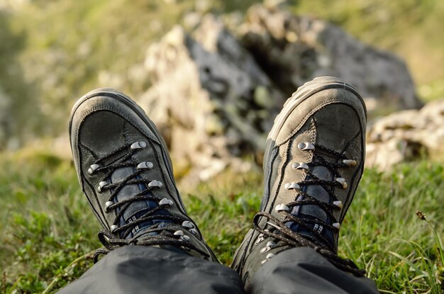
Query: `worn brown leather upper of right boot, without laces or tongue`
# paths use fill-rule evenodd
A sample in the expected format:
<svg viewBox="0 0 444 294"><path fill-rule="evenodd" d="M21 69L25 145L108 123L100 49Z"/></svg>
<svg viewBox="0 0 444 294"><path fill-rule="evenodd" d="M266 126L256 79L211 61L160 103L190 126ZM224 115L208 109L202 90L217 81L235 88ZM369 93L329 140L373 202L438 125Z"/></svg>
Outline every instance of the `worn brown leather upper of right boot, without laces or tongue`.
<svg viewBox="0 0 444 294"><path fill-rule="evenodd" d="M303 151L297 147L299 142L311 142L345 154L357 162L355 167L338 169L348 183L346 189L334 188L336 197L343 202L343 209L333 210L333 215L342 223L362 175L365 159L365 125L366 110L362 98L352 86L346 86L342 80L322 77L298 89L286 102L267 138L264 157L265 186L260 210L282 221L284 216L275 210L276 205L303 199L297 190L287 190L284 185L309 179L306 171L295 170L292 164L313 161L313 152ZM325 158L335 161L329 157ZM329 181L335 179L332 172L323 166L313 166L309 171L320 179ZM324 203L333 202L320 185L306 186L304 189L305 193ZM295 206L291 213L294 215L303 213L304 216L308 215L332 224L326 212L317 205ZM262 218L259 222L260 227L272 230L272 227L267 226L265 222L266 219ZM291 223L286 225L292 230L295 227ZM332 240L333 251L336 252L338 233L323 229L322 234ZM232 267L240 273L245 285L250 283L252 276L261 268L267 254L279 255L292 248L280 246L261 253L267 242L274 240L258 237L259 232L250 230L233 260Z"/></svg>

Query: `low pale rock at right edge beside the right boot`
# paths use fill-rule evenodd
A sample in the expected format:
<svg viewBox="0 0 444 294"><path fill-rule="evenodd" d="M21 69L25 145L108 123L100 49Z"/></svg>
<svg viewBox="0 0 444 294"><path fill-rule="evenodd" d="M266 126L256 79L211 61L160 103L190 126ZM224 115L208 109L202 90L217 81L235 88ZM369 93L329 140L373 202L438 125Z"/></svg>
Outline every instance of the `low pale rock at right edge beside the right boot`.
<svg viewBox="0 0 444 294"><path fill-rule="evenodd" d="M367 166L389 169L406 160L442 156L443 125L444 99L377 120L367 133Z"/></svg>

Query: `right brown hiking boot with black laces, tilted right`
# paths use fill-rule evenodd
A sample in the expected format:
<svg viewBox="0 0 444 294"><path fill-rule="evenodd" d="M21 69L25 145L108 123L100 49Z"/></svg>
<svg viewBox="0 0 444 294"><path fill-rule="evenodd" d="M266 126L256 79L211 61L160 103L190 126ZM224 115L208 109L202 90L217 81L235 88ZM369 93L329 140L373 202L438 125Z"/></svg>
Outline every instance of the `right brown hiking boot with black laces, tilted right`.
<svg viewBox="0 0 444 294"><path fill-rule="evenodd" d="M267 138L260 213L233 260L245 285L294 247L312 247L338 268L363 274L337 251L364 167L366 115L357 90L335 77L307 82L284 104Z"/></svg>

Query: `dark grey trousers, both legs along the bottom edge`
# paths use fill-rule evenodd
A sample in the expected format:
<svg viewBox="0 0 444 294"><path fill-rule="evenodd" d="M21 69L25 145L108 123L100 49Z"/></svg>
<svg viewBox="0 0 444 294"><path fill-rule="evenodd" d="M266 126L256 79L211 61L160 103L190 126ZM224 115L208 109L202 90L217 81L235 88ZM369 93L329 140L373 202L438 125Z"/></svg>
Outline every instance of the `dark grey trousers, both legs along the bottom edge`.
<svg viewBox="0 0 444 294"><path fill-rule="evenodd" d="M311 248L277 254L244 290L227 266L155 247L111 251L59 293L379 293L374 281L340 271Z"/></svg>

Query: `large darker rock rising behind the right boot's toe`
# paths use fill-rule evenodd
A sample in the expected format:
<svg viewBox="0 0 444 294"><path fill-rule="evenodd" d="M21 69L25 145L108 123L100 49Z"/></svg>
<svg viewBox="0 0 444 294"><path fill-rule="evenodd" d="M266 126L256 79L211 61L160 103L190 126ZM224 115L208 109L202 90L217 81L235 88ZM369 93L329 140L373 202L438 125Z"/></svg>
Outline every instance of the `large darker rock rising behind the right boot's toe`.
<svg viewBox="0 0 444 294"><path fill-rule="evenodd" d="M256 5L238 33L244 47L287 94L314 77L328 75L356 86L365 100L376 98L369 111L421 107L399 57L364 45L331 23Z"/></svg>

